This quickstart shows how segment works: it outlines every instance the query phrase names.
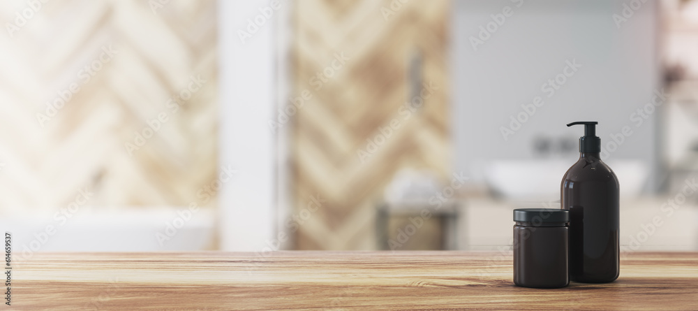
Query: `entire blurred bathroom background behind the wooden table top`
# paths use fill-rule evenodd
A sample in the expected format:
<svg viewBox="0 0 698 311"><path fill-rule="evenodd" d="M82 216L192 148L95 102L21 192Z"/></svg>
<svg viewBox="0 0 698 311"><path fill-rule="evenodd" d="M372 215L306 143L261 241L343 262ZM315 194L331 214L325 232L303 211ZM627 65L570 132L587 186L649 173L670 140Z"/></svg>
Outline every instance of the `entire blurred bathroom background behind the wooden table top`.
<svg viewBox="0 0 698 311"><path fill-rule="evenodd" d="M50 251L507 251L597 121L698 250L698 0L0 3L0 229ZM21 253L20 253L21 252Z"/></svg>

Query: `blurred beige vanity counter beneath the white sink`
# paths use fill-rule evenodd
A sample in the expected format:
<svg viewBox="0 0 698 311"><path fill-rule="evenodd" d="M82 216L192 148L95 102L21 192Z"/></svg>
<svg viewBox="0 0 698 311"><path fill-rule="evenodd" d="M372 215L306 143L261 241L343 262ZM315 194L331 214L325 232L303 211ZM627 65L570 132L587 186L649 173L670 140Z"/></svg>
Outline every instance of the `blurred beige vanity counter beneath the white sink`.
<svg viewBox="0 0 698 311"><path fill-rule="evenodd" d="M621 252L698 250L698 204L674 207L670 196L621 198ZM515 202L475 196L459 198L459 249L497 250L512 245L516 208L559 208L558 202ZM482 219L487 219L487 222Z"/></svg>

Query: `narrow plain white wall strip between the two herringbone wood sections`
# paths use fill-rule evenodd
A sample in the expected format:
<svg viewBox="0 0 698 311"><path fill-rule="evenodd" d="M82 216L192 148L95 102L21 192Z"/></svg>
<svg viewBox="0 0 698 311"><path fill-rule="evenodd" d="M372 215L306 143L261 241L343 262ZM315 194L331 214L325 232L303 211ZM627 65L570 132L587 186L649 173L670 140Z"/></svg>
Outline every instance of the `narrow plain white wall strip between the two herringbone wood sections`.
<svg viewBox="0 0 698 311"><path fill-rule="evenodd" d="M248 19L269 13L270 1L218 1L221 64L221 164L237 175L221 191L221 249L260 251L274 235L276 100L274 25L279 10L243 43ZM288 6L288 2L281 2Z"/></svg>

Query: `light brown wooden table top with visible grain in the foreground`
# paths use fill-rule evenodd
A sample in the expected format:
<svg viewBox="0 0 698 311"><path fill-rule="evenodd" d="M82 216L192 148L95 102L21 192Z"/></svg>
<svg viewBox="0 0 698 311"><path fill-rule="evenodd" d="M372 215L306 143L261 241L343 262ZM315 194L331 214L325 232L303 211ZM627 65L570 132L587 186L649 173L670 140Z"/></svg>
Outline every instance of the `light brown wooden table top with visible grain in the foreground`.
<svg viewBox="0 0 698 311"><path fill-rule="evenodd" d="M563 289L516 287L510 252L45 253L12 285L6 310L698 310L698 253Z"/></svg>

